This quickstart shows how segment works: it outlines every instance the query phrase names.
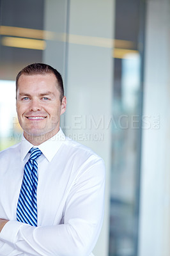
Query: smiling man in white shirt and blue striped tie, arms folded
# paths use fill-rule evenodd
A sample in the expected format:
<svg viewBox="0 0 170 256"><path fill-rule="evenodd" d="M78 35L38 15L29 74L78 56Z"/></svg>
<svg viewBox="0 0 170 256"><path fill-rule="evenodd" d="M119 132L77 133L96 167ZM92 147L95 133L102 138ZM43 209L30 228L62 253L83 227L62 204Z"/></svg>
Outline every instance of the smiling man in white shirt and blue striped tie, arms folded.
<svg viewBox="0 0 170 256"><path fill-rule="evenodd" d="M42 63L16 79L22 141L0 153L0 255L91 256L104 214L104 163L59 128L59 72Z"/></svg>

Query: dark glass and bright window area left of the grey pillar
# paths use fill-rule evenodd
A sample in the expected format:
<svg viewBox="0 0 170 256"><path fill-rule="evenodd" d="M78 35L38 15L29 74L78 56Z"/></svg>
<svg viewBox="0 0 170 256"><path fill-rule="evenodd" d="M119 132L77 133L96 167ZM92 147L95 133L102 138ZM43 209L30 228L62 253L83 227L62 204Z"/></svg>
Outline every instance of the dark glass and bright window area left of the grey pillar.
<svg viewBox="0 0 170 256"><path fill-rule="evenodd" d="M29 63L42 62L44 1L1 0L0 150L21 138L15 111L15 77Z"/></svg>

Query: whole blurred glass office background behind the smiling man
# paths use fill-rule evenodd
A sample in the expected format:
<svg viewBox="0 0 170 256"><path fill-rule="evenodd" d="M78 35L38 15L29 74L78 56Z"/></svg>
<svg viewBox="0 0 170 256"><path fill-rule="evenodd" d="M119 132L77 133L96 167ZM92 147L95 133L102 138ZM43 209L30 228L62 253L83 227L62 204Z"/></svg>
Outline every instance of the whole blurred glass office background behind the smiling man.
<svg viewBox="0 0 170 256"><path fill-rule="evenodd" d="M61 127L107 170L95 256L169 256L169 0L0 0L0 25L0 150L21 139L17 73L57 68Z"/></svg>

